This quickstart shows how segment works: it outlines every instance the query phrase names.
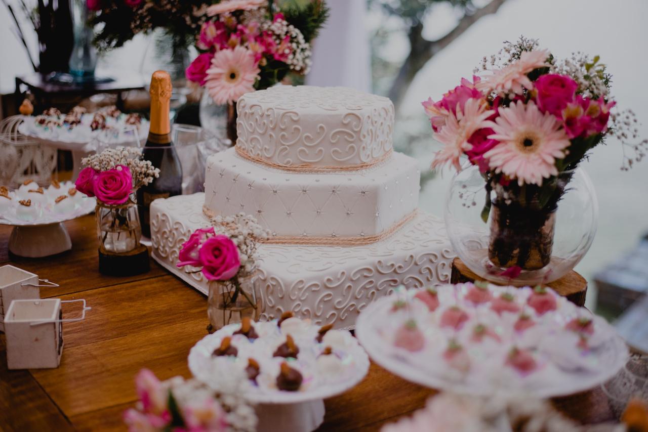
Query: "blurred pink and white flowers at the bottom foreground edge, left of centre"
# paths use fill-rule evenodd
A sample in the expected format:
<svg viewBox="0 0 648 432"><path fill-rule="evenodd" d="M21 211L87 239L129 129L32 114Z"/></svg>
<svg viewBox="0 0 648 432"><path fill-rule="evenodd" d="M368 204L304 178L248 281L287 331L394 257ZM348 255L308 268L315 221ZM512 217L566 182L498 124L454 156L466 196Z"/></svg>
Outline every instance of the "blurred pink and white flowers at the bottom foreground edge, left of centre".
<svg viewBox="0 0 648 432"><path fill-rule="evenodd" d="M215 392L197 380L176 376L159 381L148 369L135 377L139 402L124 412L131 432L253 432L257 416L237 392Z"/></svg>

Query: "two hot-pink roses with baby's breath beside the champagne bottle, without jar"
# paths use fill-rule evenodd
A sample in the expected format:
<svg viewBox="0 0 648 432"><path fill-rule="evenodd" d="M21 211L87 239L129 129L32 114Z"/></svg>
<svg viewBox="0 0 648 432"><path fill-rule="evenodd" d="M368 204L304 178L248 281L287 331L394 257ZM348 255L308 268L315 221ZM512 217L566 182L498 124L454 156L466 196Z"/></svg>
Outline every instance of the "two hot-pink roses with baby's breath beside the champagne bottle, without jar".
<svg viewBox="0 0 648 432"><path fill-rule="evenodd" d="M141 155L139 148L120 146L84 157L86 168L76 178L76 189L107 205L126 203L137 188L159 177L159 168L139 159Z"/></svg>

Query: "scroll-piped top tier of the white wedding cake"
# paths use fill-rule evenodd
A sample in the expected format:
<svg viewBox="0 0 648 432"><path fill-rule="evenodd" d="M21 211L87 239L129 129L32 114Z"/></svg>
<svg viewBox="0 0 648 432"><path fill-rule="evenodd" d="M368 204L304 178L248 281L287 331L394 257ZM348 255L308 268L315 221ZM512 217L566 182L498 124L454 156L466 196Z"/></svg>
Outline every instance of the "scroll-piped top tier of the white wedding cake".
<svg viewBox="0 0 648 432"><path fill-rule="evenodd" d="M237 150L275 168L359 169L388 157L394 106L346 87L278 85L237 103Z"/></svg>

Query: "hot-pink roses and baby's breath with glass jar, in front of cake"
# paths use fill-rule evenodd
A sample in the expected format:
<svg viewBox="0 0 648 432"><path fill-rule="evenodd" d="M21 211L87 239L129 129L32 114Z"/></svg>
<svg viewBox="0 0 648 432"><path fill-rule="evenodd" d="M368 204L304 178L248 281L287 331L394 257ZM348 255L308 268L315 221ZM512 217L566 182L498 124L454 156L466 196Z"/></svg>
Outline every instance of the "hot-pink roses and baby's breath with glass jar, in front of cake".
<svg viewBox="0 0 648 432"><path fill-rule="evenodd" d="M252 216L215 216L213 226L189 236L178 253L178 267L202 273L209 280L207 315L210 331L240 323L244 317L259 319L262 310L255 288L257 245L268 238Z"/></svg>

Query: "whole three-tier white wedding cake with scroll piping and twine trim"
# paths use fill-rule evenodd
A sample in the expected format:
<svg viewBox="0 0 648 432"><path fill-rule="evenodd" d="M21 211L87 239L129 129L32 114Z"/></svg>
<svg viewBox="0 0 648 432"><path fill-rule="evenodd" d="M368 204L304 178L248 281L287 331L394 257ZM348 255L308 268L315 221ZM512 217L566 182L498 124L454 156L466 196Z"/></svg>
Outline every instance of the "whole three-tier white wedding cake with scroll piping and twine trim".
<svg viewBox="0 0 648 432"><path fill-rule="evenodd" d="M443 222L417 210L417 161L393 152L393 104L343 87L277 86L237 104L234 148L207 160L204 194L151 206L154 258L176 269L181 244L209 217L252 214L270 230L259 247L262 318L287 310L353 326L393 288L448 282Z"/></svg>

